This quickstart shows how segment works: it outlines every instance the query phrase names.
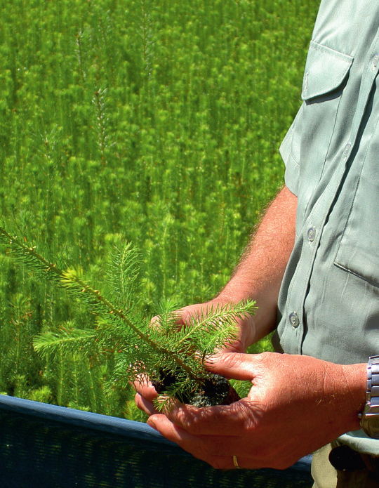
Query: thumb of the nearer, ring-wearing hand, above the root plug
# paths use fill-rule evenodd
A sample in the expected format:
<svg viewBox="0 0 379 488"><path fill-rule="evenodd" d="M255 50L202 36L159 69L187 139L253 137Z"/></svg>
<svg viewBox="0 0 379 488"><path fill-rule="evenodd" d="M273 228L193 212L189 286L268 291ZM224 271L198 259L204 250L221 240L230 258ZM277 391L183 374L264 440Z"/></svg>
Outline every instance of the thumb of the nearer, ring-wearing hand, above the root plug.
<svg viewBox="0 0 379 488"><path fill-rule="evenodd" d="M252 354L220 352L207 360L206 368L228 379L253 381L255 378L255 360Z"/></svg>

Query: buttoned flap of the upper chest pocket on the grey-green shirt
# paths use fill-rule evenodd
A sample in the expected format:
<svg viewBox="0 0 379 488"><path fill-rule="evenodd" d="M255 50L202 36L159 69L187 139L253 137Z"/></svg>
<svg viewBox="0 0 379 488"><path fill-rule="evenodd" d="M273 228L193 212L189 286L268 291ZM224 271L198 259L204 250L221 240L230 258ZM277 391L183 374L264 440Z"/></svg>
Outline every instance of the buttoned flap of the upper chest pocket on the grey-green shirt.
<svg viewBox="0 0 379 488"><path fill-rule="evenodd" d="M302 81L302 100L310 100L338 88L347 77L353 59L311 41Z"/></svg>

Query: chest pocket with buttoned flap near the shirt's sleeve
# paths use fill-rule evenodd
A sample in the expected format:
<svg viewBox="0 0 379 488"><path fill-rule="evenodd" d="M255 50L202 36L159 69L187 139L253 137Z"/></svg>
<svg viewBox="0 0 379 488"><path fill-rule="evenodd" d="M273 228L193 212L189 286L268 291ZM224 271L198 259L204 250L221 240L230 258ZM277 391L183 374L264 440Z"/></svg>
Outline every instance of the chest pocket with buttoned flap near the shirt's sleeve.
<svg viewBox="0 0 379 488"><path fill-rule="evenodd" d="M299 124L298 219L302 221L323 190L321 177L328 169L345 127L338 117L353 58L311 41L302 82ZM325 178L324 178L325 179Z"/></svg>

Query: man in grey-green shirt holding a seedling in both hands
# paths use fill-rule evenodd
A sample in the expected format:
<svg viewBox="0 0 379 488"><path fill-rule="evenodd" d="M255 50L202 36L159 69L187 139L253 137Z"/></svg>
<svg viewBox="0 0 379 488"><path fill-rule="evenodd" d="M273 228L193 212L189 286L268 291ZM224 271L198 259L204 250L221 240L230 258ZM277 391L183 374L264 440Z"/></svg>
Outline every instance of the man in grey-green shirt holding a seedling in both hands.
<svg viewBox="0 0 379 488"><path fill-rule="evenodd" d="M209 365L251 381L248 397L164 415L137 385L149 425L215 468L283 469L315 453L315 488L379 487L379 440L359 419L379 354L378 71L379 4L321 0L280 149L286 185L220 294L181 310L185 324L213 303L257 302ZM276 352L245 354L273 330Z"/></svg>

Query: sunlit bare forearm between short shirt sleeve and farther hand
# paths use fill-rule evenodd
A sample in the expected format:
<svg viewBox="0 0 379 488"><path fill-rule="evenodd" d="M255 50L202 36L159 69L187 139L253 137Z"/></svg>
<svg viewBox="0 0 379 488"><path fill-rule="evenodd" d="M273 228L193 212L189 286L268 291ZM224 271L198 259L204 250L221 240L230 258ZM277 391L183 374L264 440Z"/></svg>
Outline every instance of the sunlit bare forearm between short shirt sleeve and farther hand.
<svg viewBox="0 0 379 488"><path fill-rule="evenodd" d="M297 198L284 187L267 209L234 275L218 298L251 298L258 310L248 343L258 341L275 326L281 280L295 242Z"/></svg>

